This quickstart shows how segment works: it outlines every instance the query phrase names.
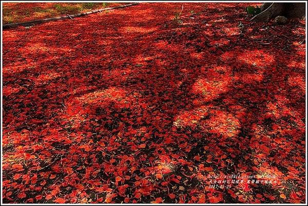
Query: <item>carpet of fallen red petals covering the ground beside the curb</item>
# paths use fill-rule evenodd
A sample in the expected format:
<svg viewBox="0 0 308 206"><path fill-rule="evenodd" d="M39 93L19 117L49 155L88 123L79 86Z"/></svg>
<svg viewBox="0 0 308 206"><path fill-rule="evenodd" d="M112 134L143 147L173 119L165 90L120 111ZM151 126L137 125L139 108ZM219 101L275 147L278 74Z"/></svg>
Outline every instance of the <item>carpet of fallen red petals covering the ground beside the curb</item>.
<svg viewBox="0 0 308 206"><path fill-rule="evenodd" d="M303 203L305 22L248 5L5 30L3 201Z"/></svg>

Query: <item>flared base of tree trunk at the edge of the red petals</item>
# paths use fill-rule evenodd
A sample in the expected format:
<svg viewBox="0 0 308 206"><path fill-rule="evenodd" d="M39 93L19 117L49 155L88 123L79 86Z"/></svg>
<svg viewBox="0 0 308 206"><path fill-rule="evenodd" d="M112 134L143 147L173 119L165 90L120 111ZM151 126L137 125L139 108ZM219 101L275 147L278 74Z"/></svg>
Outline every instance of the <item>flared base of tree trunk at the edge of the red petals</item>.
<svg viewBox="0 0 308 206"><path fill-rule="evenodd" d="M269 21L276 16L303 17L305 6L305 3L264 3L261 6L261 13L254 16L251 21Z"/></svg>

